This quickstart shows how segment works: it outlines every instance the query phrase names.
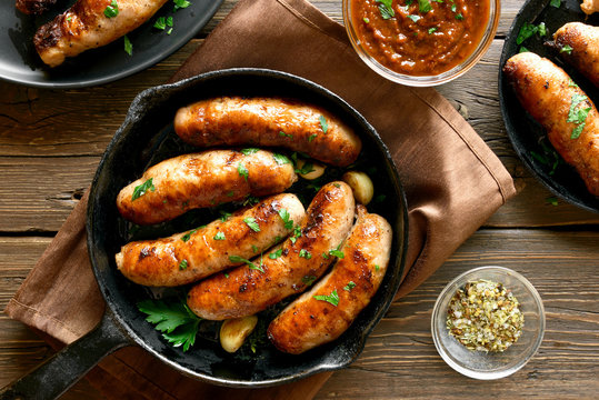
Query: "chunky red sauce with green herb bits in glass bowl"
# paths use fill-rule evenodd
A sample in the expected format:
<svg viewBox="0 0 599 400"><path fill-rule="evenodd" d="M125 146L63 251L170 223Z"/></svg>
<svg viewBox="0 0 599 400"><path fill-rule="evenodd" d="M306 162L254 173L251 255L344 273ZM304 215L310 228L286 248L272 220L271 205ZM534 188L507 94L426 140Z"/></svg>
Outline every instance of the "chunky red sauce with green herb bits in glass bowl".
<svg viewBox="0 0 599 400"><path fill-rule="evenodd" d="M351 21L365 51L382 66L410 76L433 76L467 59L489 20L490 0L392 0L383 19L377 0L350 0ZM430 2L429 2L430 1ZM421 4L422 6L422 4ZM381 6L382 7L382 6Z"/></svg>

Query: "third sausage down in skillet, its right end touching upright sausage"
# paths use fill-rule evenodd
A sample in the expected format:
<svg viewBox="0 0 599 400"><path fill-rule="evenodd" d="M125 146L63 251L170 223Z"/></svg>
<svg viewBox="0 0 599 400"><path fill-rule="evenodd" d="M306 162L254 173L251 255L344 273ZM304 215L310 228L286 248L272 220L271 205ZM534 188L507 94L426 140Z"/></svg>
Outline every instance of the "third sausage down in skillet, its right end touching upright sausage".
<svg viewBox="0 0 599 400"><path fill-rule="evenodd" d="M229 254L252 258L291 232L279 217L287 210L293 221L306 214L294 194L278 194L257 206L239 210L224 221L158 240L124 244L116 256L117 267L136 283L150 287L174 287L206 278L242 262Z"/></svg>

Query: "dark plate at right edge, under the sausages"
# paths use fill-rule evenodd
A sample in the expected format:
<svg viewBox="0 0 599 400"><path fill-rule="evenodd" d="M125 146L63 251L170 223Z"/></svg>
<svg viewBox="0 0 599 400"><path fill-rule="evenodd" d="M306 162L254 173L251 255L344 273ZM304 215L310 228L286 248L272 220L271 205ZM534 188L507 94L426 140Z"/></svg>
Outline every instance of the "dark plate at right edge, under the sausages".
<svg viewBox="0 0 599 400"><path fill-rule="evenodd" d="M499 62L499 102L513 149L533 174L563 200L582 209L599 212L599 199L589 193L582 179L572 167L559 158L558 167L553 168L556 152L547 140L543 129L522 109L501 72L506 61L520 50L516 39L522 24L525 22L535 24L545 22L549 37L541 39L535 36L527 39L521 46L563 68L595 104L598 104L598 89L573 68L562 62L556 51L545 44L546 41L552 40L552 34L561 26L573 21L597 26L599 24L599 14L587 17L580 10L579 0L562 0L560 8L549 6L549 0L529 0L525 3L503 44Z"/></svg>

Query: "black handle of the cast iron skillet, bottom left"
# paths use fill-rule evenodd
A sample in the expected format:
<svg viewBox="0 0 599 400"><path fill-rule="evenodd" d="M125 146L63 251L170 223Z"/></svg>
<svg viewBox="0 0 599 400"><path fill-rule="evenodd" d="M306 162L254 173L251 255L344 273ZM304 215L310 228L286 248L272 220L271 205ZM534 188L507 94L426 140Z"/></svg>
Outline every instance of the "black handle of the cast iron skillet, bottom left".
<svg viewBox="0 0 599 400"><path fill-rule="evenodd" d="M107 309L88 334L67 346L24 377L0 389L0 400L56 399L81 379L102 358L131 344Z"/></svg>

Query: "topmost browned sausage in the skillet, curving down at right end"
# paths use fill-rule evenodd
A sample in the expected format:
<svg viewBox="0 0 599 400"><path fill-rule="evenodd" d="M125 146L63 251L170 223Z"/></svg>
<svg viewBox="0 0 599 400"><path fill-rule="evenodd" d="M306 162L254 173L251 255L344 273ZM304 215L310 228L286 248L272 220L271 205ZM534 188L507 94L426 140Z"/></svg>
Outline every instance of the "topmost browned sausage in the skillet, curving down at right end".
<svg viewBox="0 0 599 400"><path fill-rule="evenodd" d="M326 110L278 98L220 97L179 109L174 131L200 146L266 146L301 151L333 166L356 161L360 138Z"/></svg>

